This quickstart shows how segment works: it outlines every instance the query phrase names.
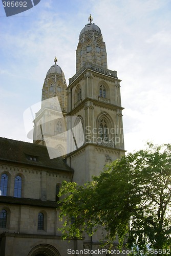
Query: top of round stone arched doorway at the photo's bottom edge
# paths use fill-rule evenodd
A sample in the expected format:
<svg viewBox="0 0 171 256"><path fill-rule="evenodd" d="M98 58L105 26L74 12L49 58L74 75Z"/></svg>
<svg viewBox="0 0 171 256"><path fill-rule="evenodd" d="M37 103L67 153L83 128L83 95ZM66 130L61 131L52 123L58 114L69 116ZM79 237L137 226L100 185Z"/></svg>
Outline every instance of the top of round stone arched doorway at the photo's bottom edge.
<svg viewBox="0 0 171 256"><path fill-rule="evenodd" d="M50 244L40 244L29 252L28 256L60 256L58 250Z"/></svg>

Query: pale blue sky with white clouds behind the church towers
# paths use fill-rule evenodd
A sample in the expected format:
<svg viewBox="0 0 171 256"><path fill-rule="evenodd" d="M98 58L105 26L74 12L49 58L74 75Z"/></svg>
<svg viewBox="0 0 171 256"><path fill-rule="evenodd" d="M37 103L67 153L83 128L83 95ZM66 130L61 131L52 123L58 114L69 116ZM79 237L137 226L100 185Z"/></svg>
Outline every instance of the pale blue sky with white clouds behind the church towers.
<svg viewBox="0 0 171 256"><path fill-rule="evenodd" d="M118 72L125 149L170 143L171 2L169 0L41 0L6 17L0 3L0 136L30 141L23 113L41 100L55 55L66 80L75 74L79 33L102 31L108 68Z"/></svg>

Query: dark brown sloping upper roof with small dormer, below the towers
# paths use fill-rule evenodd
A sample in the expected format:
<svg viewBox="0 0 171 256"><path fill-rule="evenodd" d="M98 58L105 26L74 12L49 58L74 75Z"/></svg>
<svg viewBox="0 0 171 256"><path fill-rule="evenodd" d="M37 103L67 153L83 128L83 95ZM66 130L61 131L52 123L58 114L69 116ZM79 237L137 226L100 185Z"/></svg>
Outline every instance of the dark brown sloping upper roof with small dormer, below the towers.
<svg viewBox="0 0 171 256"><path fill-rule="evenodd" d="M0 160L73 172L62 157L50 159L46 146L1 137Z"/></svg>

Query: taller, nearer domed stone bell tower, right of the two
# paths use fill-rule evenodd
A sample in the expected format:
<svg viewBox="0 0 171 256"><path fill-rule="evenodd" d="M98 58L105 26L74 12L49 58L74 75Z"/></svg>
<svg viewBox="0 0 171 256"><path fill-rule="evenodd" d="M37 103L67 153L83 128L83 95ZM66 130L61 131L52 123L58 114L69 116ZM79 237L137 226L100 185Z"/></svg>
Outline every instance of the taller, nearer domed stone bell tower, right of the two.
<svg viewBox="0 0 171 256"><path fill-rule="evenodd" d="M89 23L81 30L76 50L76 74L69 79L68 116L79 116L84 141L67 155L74 169L73 181L83 184L103 166L124 155L120 82L108 69L105 42L100 28Z"/></svg>

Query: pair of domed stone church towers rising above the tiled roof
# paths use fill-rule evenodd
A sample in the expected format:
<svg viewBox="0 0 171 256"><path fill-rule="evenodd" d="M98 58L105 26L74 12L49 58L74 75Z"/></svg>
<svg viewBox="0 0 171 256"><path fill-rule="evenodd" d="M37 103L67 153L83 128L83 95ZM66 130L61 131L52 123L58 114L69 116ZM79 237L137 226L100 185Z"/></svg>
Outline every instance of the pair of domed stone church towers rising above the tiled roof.
<svg viewBox="0 0 171 256"><path fill-rule="evenodd" d="M73 181L83 184L124 155L121 80L108 69L105 42L91 15L79 35L68 86L54 61L42 87L33 143L46 144L50 158L63 156L74 169Z"/></svg>

